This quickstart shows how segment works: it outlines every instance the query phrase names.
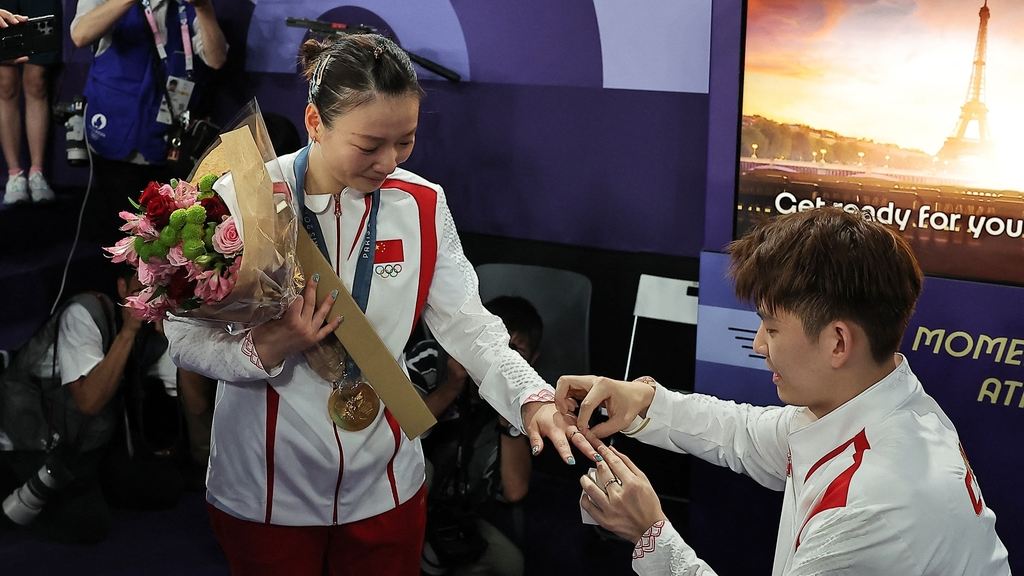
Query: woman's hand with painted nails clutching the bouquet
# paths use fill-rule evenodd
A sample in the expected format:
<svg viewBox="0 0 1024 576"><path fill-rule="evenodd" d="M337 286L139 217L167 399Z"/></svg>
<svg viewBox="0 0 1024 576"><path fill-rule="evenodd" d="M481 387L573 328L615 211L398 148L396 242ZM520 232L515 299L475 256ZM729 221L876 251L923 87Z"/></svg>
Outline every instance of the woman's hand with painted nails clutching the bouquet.
<svg viewBox="0 0 1024 576"><path fill-rule="evenodd" d="M325 298L324 303L317 307L318 281L318 275L310 278L302 294L292 301L281 319L253 328L253 346L256 347L260 362L267 369L280 365L289 356L323 340L341 325L340 317L325 324L338 293L335 292Z"/></svg>

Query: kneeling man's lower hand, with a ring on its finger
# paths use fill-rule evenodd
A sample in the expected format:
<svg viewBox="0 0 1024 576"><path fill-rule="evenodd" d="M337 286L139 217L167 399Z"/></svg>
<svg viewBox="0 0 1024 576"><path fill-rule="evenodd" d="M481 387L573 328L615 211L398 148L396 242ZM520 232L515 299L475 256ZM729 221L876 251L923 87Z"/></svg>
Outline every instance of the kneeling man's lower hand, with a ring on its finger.
<svg viewBox="0 0 1024 576"><path fill-rule="evenodd" d="M614 448L598 449L597 483L580 479L585 494L580 505L602 528L636 542L655 522L667 520L662 502L646 475Z"/></svg>

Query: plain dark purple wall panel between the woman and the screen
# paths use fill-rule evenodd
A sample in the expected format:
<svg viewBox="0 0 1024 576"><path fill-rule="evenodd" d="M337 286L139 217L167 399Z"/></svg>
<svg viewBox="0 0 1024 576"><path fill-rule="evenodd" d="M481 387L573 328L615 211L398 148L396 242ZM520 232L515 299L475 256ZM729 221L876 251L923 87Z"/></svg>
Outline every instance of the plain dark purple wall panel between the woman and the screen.
<svg viewBox="0 0 1024 576"><path fill-rule="evenodd" d="M407 167L465 232L694 257L708 96L427 83Z"/></svg>

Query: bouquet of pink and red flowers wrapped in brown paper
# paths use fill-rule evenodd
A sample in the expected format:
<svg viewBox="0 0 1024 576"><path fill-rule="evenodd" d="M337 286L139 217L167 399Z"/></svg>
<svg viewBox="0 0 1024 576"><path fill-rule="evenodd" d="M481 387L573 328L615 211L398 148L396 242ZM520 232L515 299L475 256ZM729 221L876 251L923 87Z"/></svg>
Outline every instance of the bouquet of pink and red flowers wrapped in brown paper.
<svg viewBox="0 0 1024 576"><path fill-rule="evenodd" d="M121 212L128 236L104 249L138 270L143 289L126 298L136 317L245 328L279 318L301 290L295 199L256 102L239 118L190 181L150 182L137 212Z"/></svg>

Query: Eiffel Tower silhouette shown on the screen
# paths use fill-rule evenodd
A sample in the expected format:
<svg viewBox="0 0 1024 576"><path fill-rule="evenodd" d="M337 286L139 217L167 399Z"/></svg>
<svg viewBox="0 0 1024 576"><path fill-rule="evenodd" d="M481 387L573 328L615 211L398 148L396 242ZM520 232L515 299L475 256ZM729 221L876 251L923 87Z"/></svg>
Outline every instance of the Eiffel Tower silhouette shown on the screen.
<svg viewBox="0 0 1024 576"><path fill-rule="evenodd" d="M985 55L988 50L988 0L985 0L981 11L981 25L978 27L978 43L974 48L974 66L971 69L971 82L967 89L967 104L961 108L961 117L956 122L953 135L946 138L942 150L937 155L940 160L953 164L957 160L977 157L985 162L995 161L995 142L988 129L988 108L983 97L985 95ZM978 136L967 135L972 122L978 123Z"/></svg>

